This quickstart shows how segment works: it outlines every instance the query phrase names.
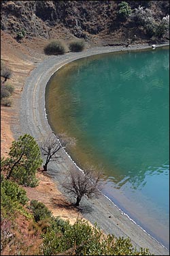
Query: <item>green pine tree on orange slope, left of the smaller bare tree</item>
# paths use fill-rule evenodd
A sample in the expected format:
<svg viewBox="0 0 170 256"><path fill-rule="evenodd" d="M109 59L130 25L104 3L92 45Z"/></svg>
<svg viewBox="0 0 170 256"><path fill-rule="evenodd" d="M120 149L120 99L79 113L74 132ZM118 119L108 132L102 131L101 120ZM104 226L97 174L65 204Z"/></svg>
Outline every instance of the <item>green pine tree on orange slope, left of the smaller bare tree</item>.
<svg viewBox="0 0 170 256"><path fill-rule="evenodd" d="M3 170L7 173L7 180L12 178L18 184L36 186L35 173L41 163L41 152L35 139L24 134L12 142L9 157L3 161Z"/></svg>

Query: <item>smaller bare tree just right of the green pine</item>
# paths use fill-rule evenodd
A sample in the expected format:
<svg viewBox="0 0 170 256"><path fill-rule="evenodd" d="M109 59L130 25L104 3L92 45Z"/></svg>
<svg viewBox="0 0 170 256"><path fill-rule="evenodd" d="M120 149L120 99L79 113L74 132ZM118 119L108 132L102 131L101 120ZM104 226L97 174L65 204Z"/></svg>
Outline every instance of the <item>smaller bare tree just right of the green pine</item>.
<svg viewBox="0 0 170 256"><path fill-rule="evenodd" d="M44 171L47 171L47 166L50 161L58 161L60 156L58 151L61 147L65 146L65 141L59 141L58 137L54 134L49 134L43 143L41 143L41 152L46 156L46 162L44 164Z"/></svg>

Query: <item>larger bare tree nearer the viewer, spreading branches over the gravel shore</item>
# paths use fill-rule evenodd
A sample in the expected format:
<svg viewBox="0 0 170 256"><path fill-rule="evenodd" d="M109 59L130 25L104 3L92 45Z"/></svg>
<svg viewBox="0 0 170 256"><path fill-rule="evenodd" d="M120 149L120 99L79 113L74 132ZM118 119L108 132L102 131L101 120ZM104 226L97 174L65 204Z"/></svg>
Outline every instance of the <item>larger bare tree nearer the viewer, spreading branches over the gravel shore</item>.
<svg viewBox="0 0 170 256"><path fill-rule="evenodd" d="M78 206L82 197L86 195L89 199L97 197L101 193L101 173L86 170L84 172L78 169L71 169L69 175L67 174L63 188L67 193L72 193L76 196L75 205Z"/></svg>

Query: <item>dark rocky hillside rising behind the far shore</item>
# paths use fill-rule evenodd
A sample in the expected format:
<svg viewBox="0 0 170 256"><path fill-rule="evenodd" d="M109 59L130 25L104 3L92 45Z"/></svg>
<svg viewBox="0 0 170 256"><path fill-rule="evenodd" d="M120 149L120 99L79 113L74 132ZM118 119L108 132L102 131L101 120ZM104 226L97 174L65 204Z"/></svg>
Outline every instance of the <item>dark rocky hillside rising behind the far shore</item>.
<svg viewBox="0 0 170 256"><path fill-rule="evenodd" d="M169 14L169 1L126 1L134 12L143 6L156 22ZM84 38L101 44L118 44L137 35L137 42L148 42L143 25L118 15L121 1L1 1L1 29L24 31L26 38Z"/></svg>

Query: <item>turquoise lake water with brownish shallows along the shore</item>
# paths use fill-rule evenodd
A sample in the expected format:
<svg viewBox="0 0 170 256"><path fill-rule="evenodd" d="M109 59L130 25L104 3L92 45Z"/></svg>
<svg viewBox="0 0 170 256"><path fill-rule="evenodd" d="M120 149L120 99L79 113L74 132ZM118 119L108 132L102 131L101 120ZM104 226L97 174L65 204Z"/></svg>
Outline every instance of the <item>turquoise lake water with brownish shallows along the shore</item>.
<svg viewBox="0 0 170 256"><path fill-rule="evenodd" d="M75 140L78 166L102 169L103 193L169 248L169 48L67 64L47 85L46 112Z"/></svg>

